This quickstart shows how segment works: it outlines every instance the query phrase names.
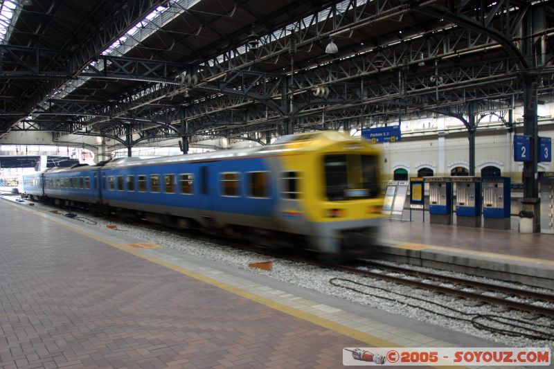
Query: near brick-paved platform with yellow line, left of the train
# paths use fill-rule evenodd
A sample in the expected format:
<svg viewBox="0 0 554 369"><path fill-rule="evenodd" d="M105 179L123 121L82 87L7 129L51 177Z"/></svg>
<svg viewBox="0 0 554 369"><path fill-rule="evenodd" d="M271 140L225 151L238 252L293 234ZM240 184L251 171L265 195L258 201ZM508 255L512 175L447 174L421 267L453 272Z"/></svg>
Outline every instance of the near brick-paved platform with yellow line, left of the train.
<svg viewBox="0 0 554 369"><path fill-rule="evenodd" d="M0 199L1 368L338 368L345 347L499 346L74 223Z"/></svg>

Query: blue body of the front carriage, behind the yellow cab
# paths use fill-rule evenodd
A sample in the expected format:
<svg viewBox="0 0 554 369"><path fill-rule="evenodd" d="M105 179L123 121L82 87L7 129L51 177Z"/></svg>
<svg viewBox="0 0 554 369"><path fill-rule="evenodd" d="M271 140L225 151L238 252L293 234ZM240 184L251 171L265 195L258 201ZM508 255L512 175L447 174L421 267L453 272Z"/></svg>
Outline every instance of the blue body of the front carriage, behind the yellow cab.
<svg viewBox="0 0 554 369"><path fill-rule="evenodd" d="M274 190L269 183L263 184L267 192L245 184L269 178L257 150L111 161L102 168L102 202L120 214L133 210L135 216L181 228L268 226Z"/></svg>

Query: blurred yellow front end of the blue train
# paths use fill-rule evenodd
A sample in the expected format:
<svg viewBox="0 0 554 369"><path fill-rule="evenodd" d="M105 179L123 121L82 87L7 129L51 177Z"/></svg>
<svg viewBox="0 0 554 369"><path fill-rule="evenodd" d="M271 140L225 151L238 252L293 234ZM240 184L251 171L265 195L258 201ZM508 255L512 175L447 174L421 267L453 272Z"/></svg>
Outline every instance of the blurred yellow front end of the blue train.
<svg viewBox="0 0 554 369"><path fill-rule="evenodd" d="M321 253L368 253L382 219L377 147L325 131L285 136L270 148L283 171L276 209L281 230L304 235Z"/></svg>

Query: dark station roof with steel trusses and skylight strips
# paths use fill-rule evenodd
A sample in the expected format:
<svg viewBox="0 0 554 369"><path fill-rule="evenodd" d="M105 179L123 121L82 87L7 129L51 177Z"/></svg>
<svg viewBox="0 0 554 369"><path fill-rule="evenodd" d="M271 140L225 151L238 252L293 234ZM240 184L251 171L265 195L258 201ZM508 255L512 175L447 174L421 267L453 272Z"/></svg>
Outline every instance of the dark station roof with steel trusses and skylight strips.
<svg viewBox="0 0 554 369"><path fill-rule="evenodd" d="M499 113L528 71L539 95L554 87L552 0L1 3L17 6L0 46L0 135L263 143L287 125L463 117L470 102ZM537 66L520 47L529 17Z"/></svg>

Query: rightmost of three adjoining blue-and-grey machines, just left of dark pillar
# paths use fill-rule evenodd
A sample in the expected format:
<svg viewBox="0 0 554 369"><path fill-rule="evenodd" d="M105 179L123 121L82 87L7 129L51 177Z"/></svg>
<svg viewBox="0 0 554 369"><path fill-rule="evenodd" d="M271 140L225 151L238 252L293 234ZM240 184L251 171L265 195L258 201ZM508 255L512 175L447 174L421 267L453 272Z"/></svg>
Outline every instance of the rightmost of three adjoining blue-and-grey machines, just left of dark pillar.
<svg viewBox="0 0 554 369"><path fill-rule="evenodd" d="M510 178L483 177L483 226L510 229Z"/></svg>

